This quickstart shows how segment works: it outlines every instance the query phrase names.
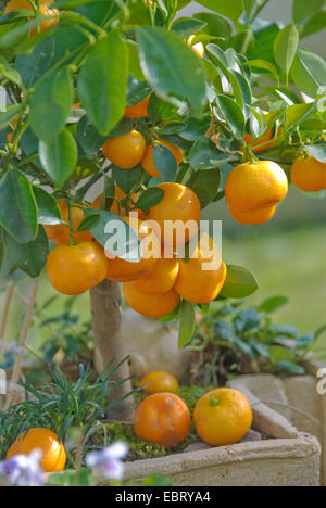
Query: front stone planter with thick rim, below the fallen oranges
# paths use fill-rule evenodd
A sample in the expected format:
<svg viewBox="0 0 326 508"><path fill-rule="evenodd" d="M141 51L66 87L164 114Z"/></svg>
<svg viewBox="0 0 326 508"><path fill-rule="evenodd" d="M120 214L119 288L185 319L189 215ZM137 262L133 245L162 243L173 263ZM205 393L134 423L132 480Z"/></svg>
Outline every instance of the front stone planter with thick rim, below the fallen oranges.
<svg viewBox="0 0 326 508"><path fill-rule="evenodd" d="M128 462L125 479L139 484L149 474L160 473L176 486L318 486L316 437L299 432L283 415L240 388L253 409L252 428L268 439L218 448L201 443L203 449ZM7 484L0 478L0 485ZM104 486L108 481L98 477L95 484Z"/></svg>

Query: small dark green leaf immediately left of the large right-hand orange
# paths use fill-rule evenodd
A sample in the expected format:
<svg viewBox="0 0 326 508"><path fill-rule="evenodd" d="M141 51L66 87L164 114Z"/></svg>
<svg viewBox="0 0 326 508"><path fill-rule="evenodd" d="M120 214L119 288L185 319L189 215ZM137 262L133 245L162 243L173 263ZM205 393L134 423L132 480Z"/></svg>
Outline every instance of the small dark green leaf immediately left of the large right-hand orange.
<svg viewBox="0 0 326 508"><path fill-rule="evenodd" d="M229 154L221 152L206 137L199 138L190 152L189 163L193 169L214 169L226 164Z"/></svg>

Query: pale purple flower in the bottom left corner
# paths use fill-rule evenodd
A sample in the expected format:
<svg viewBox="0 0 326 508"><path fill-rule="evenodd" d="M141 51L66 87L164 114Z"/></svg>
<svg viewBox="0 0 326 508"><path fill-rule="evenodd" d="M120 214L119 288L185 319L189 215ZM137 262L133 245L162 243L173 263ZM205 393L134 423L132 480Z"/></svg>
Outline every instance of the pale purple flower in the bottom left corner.
<svg viewBox="0 0 326 508"><path fill-rule="evenodd" d="M42 453L38 449L30 455L16 455L10 460L0 462L0 474L7 474L15 486L42 486L43 471L40 467Z"/></svg>

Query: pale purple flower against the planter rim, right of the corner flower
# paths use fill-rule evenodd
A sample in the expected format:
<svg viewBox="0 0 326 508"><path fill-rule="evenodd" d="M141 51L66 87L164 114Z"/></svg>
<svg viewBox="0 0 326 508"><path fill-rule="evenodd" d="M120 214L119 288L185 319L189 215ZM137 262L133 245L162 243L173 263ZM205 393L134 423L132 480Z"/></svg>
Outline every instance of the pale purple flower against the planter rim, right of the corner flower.
<svg viewBox="0 0 326 508"><path fill-rule="evenodd" d="M127 455L128 446L122 441L117 441L109 448L88 454L86 463L89 468L98 469L108 480L122 480L125 470L122 460Z"/></svg>

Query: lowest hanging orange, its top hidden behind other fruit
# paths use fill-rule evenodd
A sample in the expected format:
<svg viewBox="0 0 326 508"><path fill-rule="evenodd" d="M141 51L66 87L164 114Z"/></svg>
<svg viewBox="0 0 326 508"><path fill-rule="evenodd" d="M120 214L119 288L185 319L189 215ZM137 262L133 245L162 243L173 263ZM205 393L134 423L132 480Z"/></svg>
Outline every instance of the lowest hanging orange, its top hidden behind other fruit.
<svg viewBox="0 0 326 508"><path fill-rule="evenodd" d="M135 282L124 284L124 296L129 307L152 319L159 319L173 313L180 301L179 295L174 290L156 295L140 293L136 289Z"/></svg>

